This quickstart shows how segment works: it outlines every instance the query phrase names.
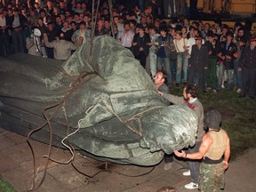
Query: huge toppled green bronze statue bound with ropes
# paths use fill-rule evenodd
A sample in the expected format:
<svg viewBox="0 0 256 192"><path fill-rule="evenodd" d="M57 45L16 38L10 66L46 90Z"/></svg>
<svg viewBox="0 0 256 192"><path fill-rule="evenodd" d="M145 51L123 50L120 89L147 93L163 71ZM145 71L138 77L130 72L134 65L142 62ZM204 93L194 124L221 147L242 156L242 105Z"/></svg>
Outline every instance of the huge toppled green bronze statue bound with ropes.
<svg viewBox="0 0 256 192"><path fill-rule="evenodd" d="M84 44L64 63L26 54L5 58L0 87L2 128L28 135L46 118L59 147L67 129L79 129L68 142L85 156L154 165L164 152L195 143L195 113L167 106L140 62L111 36L96 37L92 49ZM32 138L49 142L47 124Z"/></svg>

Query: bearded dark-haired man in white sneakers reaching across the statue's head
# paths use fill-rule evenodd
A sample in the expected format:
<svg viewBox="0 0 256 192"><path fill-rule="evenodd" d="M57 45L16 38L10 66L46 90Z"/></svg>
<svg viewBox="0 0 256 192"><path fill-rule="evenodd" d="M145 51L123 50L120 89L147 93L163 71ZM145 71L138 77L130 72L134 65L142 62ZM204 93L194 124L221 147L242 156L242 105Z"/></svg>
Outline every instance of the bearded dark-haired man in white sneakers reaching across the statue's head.
<svg viewBox="0 0 256 192"><path fill-rule="evenodd" d="M164 92L158 92L165 100L169 100L173 104L185 103L188 108L191 108L197 116L198 126L196 132L196 144L186 149L189 153L198 151L201 140L204 135L204 108L202 103L197 99L196 86L188 84L183 89L183 97L178 97ZM188 161L188 172L183 172L184 176L191 175L191 182L185 185L185 188L198 188L199 178L199 161Z"/></svg>

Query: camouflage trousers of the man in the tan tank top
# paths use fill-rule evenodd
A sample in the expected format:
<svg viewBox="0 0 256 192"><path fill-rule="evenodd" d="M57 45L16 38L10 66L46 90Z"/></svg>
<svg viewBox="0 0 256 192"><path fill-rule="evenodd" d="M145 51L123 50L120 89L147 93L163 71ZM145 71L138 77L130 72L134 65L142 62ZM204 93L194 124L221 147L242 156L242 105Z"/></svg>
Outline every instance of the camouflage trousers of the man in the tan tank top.
<svg viewBox="0 0 256 192"><path fill-rule="evenodd" d="M199 191L218 192L224 188L224 164L200 164Z"/></svg>

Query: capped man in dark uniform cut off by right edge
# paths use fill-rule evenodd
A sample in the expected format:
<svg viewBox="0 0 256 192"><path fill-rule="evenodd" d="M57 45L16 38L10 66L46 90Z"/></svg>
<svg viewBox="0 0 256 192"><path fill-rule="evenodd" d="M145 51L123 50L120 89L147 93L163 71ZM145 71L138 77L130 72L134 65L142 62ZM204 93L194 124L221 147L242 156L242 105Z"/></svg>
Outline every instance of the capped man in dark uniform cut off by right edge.
<svg viewBox="0 0 256 192"><path fill-rule="evenodd" d="M241 97L244 97L248 89L249 97L254 100L256 92L256 36L250 38L250 45L242 51L238 71L242 71L243 85Z"/></svg>

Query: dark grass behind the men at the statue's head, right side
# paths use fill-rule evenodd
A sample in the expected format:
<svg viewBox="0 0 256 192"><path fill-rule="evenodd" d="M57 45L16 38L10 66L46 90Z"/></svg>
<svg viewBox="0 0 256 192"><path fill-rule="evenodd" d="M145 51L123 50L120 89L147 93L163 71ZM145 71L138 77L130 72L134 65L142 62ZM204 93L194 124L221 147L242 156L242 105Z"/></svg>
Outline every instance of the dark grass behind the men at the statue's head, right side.
<svg viewBox="0 0 256 192"><path fill-rule="evenodd" d="M172 94L182 94L182 87L172 88ZM228 132L231 141L230 160L244 154L249 148L256 148L256 100L239 98L234 91L223 90L217 94L199 92L198 99L204 111L216 108L222 115L221 127Z"/></svg>

